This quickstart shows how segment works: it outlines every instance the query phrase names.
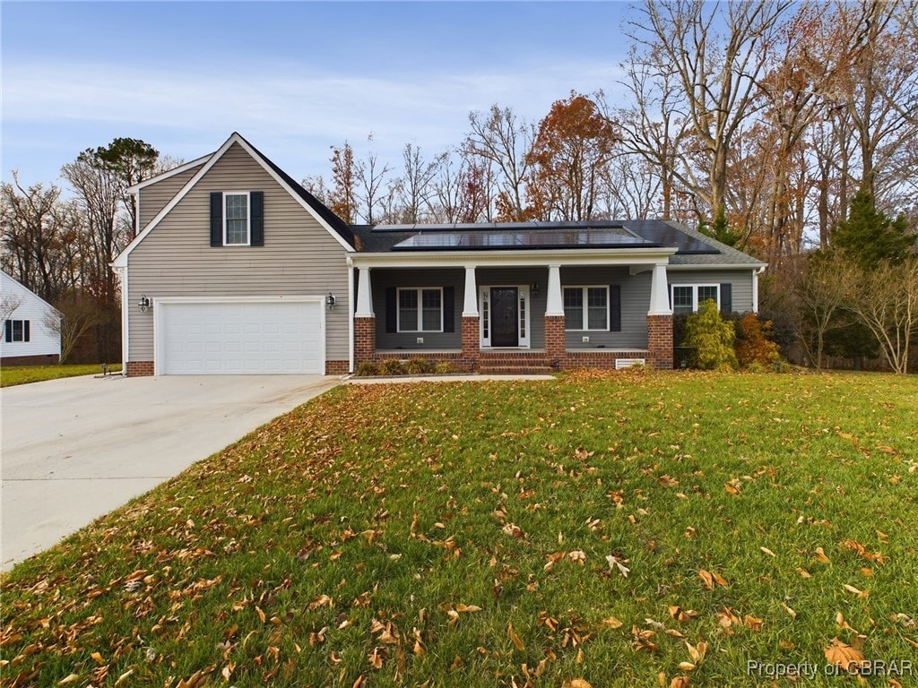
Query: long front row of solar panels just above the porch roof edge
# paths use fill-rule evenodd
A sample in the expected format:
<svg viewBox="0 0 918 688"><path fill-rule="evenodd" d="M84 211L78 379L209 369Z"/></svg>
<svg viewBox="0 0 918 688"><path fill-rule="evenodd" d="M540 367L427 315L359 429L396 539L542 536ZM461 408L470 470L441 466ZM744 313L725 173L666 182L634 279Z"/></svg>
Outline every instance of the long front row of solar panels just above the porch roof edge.
<svg viewBox="0 0 918 688"><path fill-rule="evenodd" d="M567 230L517 231L433 231L416 234L393 247L393 250L487 250L549 249L584 247L653 248L654 241L641 239L630 232L610 229L571 228Z"/></svg>

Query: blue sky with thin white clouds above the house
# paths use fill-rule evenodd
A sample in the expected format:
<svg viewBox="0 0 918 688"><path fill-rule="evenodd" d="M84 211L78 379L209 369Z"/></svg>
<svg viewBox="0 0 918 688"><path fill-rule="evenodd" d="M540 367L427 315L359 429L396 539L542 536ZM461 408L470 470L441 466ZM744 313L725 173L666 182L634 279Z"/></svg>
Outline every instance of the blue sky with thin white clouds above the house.
<svg viewBox="0 0 918 688"><path fill-rule="evenodd" d="M2 172L52 182L133 137L185 161L237 130L295 178L350 140L398 161L461 141L468 113L537 121L571 89L615 100L617 2L8 2Z"/></svg>

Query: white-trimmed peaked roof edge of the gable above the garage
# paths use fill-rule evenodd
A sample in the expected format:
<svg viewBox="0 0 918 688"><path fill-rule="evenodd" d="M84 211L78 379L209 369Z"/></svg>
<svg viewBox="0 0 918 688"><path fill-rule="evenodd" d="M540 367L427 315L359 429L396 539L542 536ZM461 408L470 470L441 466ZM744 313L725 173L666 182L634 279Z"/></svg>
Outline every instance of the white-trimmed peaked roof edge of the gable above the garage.
<svg viewBox="0 0 918 688"><path fill-rule="evenodd" d="M321 227L324 227L330 235L341 244L344 250L354 250L353 233L350 227L348 227L340 217L332 213L325 205L319 203L319 200L315 196L309 194L306 189L295 182L290 175L277 167L274 162L264 157L259 150L255 149L246 139L243 139L239 133L233 132L232 136L230 136L229 139L227 139L223 145L207 159L201 169L196 172L195 176L182 187L181 191L174 195L173 199L162 208L157 216L153 217L150 224L129 243L125 250L118 254L118 258L112 263L114 267L127 267L130 252L134 250L143 239L146 239L150 232L162 222L162 218L169 215L173 208L178 205L193 188L195 188L196 184L201 181L204 175L213 168L217 161L223 157L233 144L238 144L242 150L245 150L252 157L252 160L258 162L263 167L264 171L268 172L268 174L274 178L275 182L280 184L280 186L290 194L309 215L313 216L316 221L319 222ZM191 163L189 163L189 165L190 164Z"/></svg>

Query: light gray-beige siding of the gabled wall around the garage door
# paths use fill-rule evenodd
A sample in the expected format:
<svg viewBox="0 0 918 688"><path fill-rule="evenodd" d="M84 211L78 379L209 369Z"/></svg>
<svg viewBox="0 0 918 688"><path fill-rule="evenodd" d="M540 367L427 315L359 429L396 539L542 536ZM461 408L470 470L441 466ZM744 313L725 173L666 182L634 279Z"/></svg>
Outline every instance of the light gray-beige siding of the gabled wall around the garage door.
<svg viewBox="0 0 918 688"><path fill-rule="evenodd" d="M213 191L264 193L263 247L210 247ZM346 251L238 144L129 254L128 282L129 361L153 360L154 316L140 313L140 294L156 299L331 293L337 304L326 313L326 360L349 358Z"/></svg>

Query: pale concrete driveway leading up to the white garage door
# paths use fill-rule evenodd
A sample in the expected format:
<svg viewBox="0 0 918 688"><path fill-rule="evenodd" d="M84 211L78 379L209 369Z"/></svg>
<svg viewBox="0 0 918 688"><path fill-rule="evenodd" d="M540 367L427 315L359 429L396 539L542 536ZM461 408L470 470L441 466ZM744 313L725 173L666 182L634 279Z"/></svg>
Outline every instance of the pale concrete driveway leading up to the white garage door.
<svg viewBox="0 0 918 688"><path fill-rule="evenodd" d="M115 375L6 387L0 570L337 383L321 375Z"/></svg>

